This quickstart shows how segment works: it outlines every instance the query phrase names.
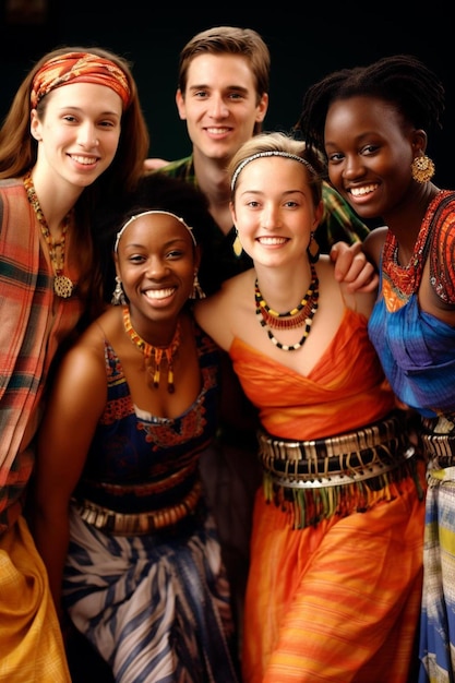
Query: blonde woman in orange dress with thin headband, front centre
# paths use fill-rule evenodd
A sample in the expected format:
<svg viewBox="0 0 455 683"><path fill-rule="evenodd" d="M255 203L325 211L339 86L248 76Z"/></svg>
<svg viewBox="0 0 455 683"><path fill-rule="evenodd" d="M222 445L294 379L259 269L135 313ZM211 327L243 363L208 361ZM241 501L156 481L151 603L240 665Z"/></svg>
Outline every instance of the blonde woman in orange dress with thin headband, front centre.
<svg viewBox="0 0 455 683"><path fill-rule="evenodd" d="M318 255L320 159L282 133L232 159L231 211L254 267L197 302L258 407L243 624L246 683L405 683L422 580L424 465L367 324Z"/></svg>

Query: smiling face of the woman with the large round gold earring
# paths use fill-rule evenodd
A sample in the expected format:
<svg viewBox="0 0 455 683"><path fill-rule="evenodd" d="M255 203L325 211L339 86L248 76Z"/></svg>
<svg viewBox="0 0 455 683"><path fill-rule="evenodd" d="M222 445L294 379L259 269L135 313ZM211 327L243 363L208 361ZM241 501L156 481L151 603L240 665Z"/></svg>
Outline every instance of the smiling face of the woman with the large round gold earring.
<svg viewBox="0 0 455 683"><path fill-rule="evenodd" d="M385 217L416 187L411 163L424 137L390 103L372 97L335 100L325 120L328 173L363 218Z"/></svg>

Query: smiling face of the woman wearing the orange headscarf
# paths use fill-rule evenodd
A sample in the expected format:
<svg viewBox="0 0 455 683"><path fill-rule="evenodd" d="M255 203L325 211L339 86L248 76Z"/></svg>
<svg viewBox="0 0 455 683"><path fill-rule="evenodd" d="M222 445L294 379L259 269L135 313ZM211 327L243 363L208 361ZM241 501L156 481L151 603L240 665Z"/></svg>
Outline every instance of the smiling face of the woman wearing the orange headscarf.
<svg viewBox="0 0 455 683"><path fill-rule="evenodd" d="M120 139L122 101L113 89L71 83L43 100L45 113L32 110L31 131L38 141L36 171L58 183L63 178L81 189L111 164Z"/></svg>

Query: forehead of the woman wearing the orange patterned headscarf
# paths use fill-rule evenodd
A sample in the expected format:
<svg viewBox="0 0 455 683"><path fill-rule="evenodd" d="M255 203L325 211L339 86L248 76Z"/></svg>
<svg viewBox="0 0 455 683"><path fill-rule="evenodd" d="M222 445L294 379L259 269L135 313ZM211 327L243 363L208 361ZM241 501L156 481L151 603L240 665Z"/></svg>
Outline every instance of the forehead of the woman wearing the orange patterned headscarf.
<svg viewBox="0 0 455 683"><path fill-rule="evenodd" d="M47 106L56 108L89 109L122 113L122 100L112 88L99 83L69 83L50 91L46 95Z"/></svg>

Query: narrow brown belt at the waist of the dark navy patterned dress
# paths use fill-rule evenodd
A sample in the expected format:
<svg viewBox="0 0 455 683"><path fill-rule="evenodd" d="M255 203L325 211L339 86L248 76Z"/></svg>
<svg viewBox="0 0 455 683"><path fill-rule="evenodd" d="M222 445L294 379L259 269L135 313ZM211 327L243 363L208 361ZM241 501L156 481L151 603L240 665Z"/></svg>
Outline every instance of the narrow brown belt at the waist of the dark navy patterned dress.
<svg viewBox="0 0 455 683"><path fill-rule="evenodd" d="M141 536L171 527L188 517L195 511L201 493L202 483L197 481L190 493L177 505L131 515L101 507L86 500L72 499L72 504L82 519L97 529L117 536Z"/></svg>

